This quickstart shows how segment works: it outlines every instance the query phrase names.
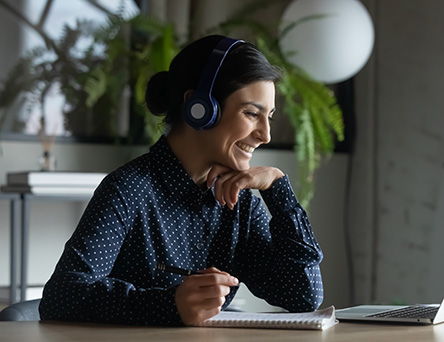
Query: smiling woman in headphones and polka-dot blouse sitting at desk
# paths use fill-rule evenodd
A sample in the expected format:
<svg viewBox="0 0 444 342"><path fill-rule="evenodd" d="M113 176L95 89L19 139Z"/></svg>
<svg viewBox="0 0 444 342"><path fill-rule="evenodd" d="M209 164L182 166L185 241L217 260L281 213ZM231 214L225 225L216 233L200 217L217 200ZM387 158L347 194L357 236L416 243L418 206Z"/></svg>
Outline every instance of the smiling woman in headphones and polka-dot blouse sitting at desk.
<svg viewBox="0 0 444 342"><path fill-rule="evenodd" d="M169 133L99 185L45 286L42 319L194 325L225 309L239 281L289 311L319 307L322 252L288 177L250 167L271 139L278 79L253 45L222 36L151 78L146 102Z"/></svg>

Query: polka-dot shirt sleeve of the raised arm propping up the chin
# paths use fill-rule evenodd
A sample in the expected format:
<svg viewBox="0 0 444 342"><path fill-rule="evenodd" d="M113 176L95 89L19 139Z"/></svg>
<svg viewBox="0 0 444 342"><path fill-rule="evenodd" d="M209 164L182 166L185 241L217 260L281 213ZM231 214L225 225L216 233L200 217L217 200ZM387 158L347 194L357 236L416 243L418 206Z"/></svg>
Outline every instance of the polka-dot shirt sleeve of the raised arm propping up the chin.
<svg viewBox="0 0 444 342"><path fill-rule="evenodd" d="M291 312L316 310L323 300L319 264L322 250L288 176L261 192L269 214L256 197L242 247L240 280L269 304Z"/></svg>

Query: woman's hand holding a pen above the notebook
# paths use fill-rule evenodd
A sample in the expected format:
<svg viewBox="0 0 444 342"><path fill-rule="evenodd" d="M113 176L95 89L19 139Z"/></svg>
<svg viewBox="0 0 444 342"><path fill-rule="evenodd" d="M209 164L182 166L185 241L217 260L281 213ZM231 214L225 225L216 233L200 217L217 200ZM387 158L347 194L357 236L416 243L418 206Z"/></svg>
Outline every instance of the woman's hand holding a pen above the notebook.
<svg viewBox="0 0 444 342"><path fill-rule="evenodd" d="M202 274L188 276L176 289L176 306L185 325L195 325L218 314L239 280L211 267Z"/></svg>

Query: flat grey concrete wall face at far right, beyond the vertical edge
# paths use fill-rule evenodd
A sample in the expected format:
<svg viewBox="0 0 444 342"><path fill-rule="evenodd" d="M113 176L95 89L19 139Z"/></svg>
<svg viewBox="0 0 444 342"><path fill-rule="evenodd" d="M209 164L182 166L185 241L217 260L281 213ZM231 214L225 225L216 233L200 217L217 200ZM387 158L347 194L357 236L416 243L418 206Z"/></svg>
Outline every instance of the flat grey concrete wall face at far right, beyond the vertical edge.
<svg viewBox="0 0 444 342"><path fill-rule="evenodd" d="M378 1L375 298L439 301L444 3ZM434 248L435 247L435 248ZM437 249L439 248L439 250Z"/></svg>

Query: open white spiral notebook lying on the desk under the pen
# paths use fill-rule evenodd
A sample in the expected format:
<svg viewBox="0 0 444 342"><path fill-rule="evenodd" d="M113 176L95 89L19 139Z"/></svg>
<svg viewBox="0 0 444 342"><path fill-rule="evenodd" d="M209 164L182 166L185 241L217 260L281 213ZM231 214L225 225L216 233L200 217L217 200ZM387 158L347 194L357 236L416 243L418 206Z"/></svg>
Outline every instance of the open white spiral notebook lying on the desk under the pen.
<svg viewBox="0 0 444 342"><path fill-rule="evenodd" d="M325 330L338 321L334 306L303 313L263 313L222 311L199 327L217 328L265 328Z"/></svg>

